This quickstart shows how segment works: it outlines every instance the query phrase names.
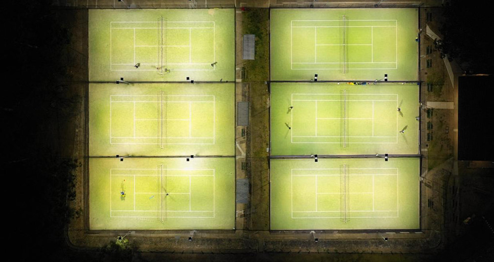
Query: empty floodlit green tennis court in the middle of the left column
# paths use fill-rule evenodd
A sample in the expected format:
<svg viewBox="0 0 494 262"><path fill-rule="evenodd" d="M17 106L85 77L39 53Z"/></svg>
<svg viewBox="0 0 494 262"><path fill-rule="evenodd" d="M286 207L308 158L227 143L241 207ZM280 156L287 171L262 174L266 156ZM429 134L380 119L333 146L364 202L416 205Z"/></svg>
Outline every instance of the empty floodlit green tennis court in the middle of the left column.
<svg viewBox="0 0 494 262"><path fill-rule="evenodd" d="M90 84L90 156L233 156L235 86Z"/></svg>

